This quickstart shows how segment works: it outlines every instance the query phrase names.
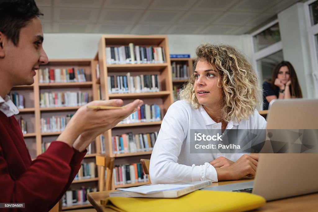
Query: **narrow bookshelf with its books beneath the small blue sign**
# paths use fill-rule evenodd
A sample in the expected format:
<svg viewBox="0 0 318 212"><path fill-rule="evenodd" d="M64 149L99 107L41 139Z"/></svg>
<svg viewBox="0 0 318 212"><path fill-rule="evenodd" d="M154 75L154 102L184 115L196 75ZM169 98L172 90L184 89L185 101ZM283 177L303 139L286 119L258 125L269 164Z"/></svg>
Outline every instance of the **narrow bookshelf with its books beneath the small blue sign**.
<svg viewBox="0 0 318 212"><path fill-rule="evenodd" d="M183 87L190 75L193 73L193 59L192 58L170 58L172 69L172 86L173 98L177 100L177 93Z"/></svg>

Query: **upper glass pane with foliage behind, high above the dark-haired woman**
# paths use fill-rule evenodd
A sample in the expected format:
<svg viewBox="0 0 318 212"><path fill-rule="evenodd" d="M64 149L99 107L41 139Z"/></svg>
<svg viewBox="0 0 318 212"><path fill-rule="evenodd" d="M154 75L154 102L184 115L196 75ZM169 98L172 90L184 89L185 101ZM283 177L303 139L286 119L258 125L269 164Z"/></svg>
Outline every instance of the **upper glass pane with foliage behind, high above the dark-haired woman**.
<svg viewBox="0 0 318 212"><path fill-rule="evenodd" d="M277 23L253 37L254 51L257 52L279 41L280 31Z"/></svg>

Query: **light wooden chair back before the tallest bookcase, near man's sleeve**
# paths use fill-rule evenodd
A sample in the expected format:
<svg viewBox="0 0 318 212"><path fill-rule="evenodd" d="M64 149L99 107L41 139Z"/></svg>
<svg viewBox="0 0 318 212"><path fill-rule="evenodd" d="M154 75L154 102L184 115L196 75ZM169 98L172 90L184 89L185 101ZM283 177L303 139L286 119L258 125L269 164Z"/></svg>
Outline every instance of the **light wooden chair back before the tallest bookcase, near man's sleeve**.
<svg viewBox="0 0 318 212"><path fill-rule="evenodd" d="M98 183L99 191L111 190L114 170L114 158L106 155L96 155L96 165L100 166L100 177Z"/></svg>

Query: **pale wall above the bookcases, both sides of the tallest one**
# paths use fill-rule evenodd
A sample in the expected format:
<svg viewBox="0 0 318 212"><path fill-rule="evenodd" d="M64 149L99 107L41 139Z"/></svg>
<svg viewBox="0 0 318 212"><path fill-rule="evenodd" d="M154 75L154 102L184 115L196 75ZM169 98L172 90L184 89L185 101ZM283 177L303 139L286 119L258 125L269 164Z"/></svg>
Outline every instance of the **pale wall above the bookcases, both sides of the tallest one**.
<svg viewBox="0 0 318 212"><path fill-rule="evenodd" d="M44 50L49 59L93 58L101 34L45 33ZM236 46L252 58L249 35L168 35L170 54L195 55L201 43L226 43Z"/></svg>

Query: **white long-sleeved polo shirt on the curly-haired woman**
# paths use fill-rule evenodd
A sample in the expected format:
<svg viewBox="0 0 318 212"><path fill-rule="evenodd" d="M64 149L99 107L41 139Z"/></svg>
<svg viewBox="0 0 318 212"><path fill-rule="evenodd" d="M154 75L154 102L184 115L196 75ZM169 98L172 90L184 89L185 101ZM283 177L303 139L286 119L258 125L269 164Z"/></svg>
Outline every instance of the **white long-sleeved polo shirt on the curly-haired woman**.
<svg viewBox="0 0 318 212"><path fill-rule="evenodd" d="M237 161L242 154L190 153L190 129L221 129L200 105L193 109L184 100L173 103L161 124L150 159L152 183L176 183L212 180L218 181L211 161L224 156ZM226 129L266 129L266 120L255 110L247 120L231 121Z"/></svg>

